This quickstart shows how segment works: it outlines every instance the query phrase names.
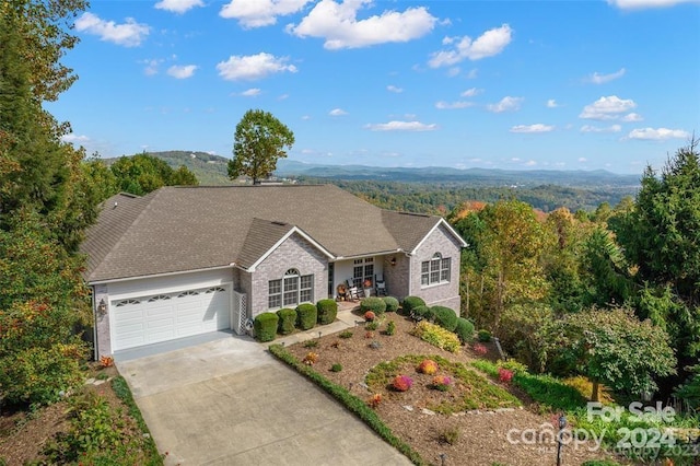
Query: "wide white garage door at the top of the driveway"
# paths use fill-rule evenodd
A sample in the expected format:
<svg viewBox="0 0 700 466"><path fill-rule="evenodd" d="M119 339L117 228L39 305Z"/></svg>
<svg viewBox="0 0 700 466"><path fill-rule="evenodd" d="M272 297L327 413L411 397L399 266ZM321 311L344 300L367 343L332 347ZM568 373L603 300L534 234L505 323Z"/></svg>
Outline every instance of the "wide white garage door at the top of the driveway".
<svg viewBox="0 0 700 466"><path fill-rule="evenodd" d="M113 351L231 328L228 287L112 301Z"/></svg>

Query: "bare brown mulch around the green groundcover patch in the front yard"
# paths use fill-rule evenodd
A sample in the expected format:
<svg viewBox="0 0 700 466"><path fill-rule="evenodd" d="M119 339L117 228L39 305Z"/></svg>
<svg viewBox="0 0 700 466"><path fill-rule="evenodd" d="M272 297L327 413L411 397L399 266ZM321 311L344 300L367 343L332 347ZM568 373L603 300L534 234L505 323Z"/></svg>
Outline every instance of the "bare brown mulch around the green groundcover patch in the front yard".
<svg viewBox="0 0 700 466"><path fill-rule="evenodd" d="M360 316L358 318L361 319ZM385 335L383 331L389 319L396 324L396 333L393 336ZM318 354L318 360L314 364L316 371L366 400L373 392L365 384L365 375L380 362L407 354L436 354L465 364L476 359L468 347L463 347L458 353L451 353L411 336L409 333L413 327L415 323L409 318L387 313L384 325L372 335L368 335L364 327L359 325L351 329L353 335L350 338L340 338L339 334L327 335L315 339L318 343L314 348L298 343L287 349L300 361L310 351L315 352ZM373 341L380 343L378 349L371 347ZM489 346L489 350L490 353L483 358L498 359L493 347ZM330 371L332 364L341 364L342 370ZM419 375L411 374L411 376ZM495 381L492 383L498 384ZM522 439L520 432L526 429L540 432L542 424L551 426L556 415L537 413L535 411L537 407L530 404L523 393L508 385L502 387L518 397L524 406L508 410L475 409L451 415L430 413L422 408L433 406L440 401L441 397L454 397L455 394L432 389L425 383L415 383L405 393L385 391L376 411L397 436L409 443L424 461L431 464L440 465L441 454L445 455L442 463L444 465L556 464L555 443L544 441L524 444L522 441L515 443L508 440L509 431L513 429L518 430L511 433L511 438L516 440ZM458 432L457 440L452 444L444 441L444 434L450 431ZM556 432L553 429L551 431ZM608 457L602 452L591 452L588 447L593 447L593 444L579 445L578 448L573 445L565 446L563 464L578 465L587 459Z"/></svg>

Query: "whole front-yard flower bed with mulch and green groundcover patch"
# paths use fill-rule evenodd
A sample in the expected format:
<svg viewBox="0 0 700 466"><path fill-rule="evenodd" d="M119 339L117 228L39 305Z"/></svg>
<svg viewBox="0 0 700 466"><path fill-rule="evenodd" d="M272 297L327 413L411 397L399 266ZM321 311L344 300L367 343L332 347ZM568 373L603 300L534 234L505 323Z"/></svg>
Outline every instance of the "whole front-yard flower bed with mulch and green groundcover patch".
<svg viewBox="0 0 700 466"><path fill-rule="evenodd" d="M446 465L555 464L556 448L547 450L553 445L508 441L512 429L538 429L550 422L551 416L518 407L520 401L513 396L518 392L513 384L499 383L498 378L477 372L470 365L477 356L469 346L455 353L442 350L410 335L416 327L412 321L400 315L392 319L394 335L386 335L385 319L371 331L371 339L365 338L363 325L346 330L342 339L339 335L319 338L313 349L317 354L315 364L301 365L376 412L392 435L410 444L427 464L440 464L441 453L446 455ZM335 345L338 341L341 343ZM302 345L284 350L300 362L308 353ZM424 374L418 370L425 360L435 362L436 372ZM332 372L334 364L341 364L342 371ZM392 387L397 375L412 380L409 389L398 392ZM443 384L444 392L436 388L436 376L450 377L451 383ZM576 452L564 450L564 454L565 464L571 465L604 457L585 447Z"/></svg>

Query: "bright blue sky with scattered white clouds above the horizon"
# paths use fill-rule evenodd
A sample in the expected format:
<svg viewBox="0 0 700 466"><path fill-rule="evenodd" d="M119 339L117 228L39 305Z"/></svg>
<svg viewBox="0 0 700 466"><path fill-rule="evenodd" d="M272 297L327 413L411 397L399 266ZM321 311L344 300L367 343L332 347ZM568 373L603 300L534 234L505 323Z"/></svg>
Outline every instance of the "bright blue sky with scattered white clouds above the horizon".
<svg viewBox="0 0 700 466"><path fill-rule="evenodd" d="M249 108L323 164L641 173L700 133L700 3L93 0L47 105L104 158L232 156Z"/></svg>

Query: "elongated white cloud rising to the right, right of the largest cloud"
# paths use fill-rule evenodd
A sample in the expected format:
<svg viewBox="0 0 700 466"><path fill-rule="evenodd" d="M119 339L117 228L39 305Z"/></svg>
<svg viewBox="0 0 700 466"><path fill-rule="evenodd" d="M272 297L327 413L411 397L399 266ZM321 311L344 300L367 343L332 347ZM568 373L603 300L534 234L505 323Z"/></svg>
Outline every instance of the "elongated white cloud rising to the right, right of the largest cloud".
<svg viewBox="0 0 700 466"><path fill-rule="evenodd" d="M479 60L492 57L503 51L511 43L513 30L508 24L495 27L481 34L475 40L471 37L453 37L443 39L444 45L454 45L452 50L442 50L432 54L428 65L431 68L448 67L464 59Z"/></svg>

